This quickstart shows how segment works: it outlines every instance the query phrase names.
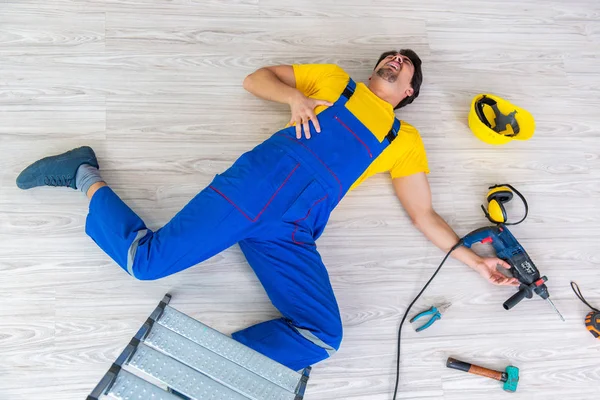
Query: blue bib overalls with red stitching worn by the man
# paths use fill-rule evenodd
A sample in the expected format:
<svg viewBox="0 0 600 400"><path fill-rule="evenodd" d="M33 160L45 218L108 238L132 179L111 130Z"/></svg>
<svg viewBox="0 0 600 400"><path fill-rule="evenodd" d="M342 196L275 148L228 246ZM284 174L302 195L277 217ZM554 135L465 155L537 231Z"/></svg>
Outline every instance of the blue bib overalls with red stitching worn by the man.
<svg viewBox="0 0 600 400"><path fill-rule="evenodd" d="M90 203L86 233L137 279L158 279L239 243L282 318L233 334L234 339L294 369L333 354L342 322L317 251L331 211L395 139L380 142L348 109L355 83L319 114L321 133L296 139L283 129L194 197L156 232L109 188Z"/></svg>

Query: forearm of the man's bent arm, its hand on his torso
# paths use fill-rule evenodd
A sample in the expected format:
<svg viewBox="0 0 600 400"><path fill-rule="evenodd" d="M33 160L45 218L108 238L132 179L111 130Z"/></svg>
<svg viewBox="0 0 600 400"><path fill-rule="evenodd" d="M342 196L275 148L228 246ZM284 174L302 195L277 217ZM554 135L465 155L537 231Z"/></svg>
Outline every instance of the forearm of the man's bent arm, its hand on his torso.
<svg viewBox="0 0 600 400"><path fill-rule="evenodd" d="M244 89L261 99L290 104L302 93L289 86L267 68L261 68L244 79Z"/></svg>

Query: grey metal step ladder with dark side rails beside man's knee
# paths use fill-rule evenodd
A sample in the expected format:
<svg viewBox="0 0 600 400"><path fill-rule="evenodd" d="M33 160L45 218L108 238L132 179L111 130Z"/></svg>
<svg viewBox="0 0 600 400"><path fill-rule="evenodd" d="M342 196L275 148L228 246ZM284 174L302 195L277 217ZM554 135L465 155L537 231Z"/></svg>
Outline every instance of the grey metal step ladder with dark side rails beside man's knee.
<svg viewBox="0 0 600 400"><path fill-rule="evenodd" d="M165 295L87 400L302 400L293 371L176 309Z"/></svg>

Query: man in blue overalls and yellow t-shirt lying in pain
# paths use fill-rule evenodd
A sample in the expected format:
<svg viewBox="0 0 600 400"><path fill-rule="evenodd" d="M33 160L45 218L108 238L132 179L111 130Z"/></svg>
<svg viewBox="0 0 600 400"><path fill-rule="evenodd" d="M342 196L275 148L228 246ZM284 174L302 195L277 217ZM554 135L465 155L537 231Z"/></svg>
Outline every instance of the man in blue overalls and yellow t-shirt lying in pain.
<svg viewBox="0 0 600 400"><path fill-rule="evenodd" d="M368 84L356 84L336 65L257 70L244 87L288 104L290 126L243 154L156 232L102 180L89 147L35 162L17 185L87 194L86 233L137 279L177 273L239 243L282 317L233 337L300 370L335 353L342 341L340 312L315 241L349 191L389 171L413 224L444 252L458 241L432 207L419 133L394 116L419 95L421 82L421 60L411 50L382 54ZM491 283L516 284L496 270L509 268L498 258L465 247L453 256Z"/></svg>

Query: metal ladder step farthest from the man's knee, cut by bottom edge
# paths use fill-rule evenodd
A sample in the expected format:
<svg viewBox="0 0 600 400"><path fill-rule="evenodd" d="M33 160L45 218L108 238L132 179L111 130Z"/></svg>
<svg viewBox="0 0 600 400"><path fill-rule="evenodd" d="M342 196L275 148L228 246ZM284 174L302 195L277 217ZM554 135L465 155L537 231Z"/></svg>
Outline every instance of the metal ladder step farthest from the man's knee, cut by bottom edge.
<svg viewBox="0 0 600 400"><path fill-rule="evenodd" d="M117 400L181 400L125 370L119 372L107 395Z"/></svg>

